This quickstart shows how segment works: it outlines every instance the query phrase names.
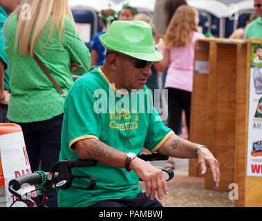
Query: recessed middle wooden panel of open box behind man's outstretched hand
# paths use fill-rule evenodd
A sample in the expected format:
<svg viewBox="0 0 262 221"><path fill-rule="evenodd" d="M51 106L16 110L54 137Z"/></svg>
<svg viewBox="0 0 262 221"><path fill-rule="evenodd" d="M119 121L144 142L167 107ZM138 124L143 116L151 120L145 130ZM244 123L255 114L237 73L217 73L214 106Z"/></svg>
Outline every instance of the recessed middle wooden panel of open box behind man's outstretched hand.
<svg viewBox="0 0 262 221"><path fill-rule="evenodd" d="M236 114L236 44L210 43L208 79L207 146L221 168L220 191L234 182L234 142ZM205 187L213 188L210 171Z"/></svg>

